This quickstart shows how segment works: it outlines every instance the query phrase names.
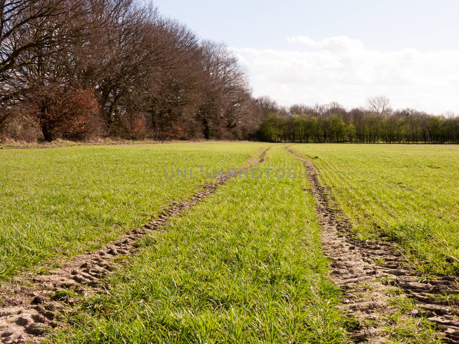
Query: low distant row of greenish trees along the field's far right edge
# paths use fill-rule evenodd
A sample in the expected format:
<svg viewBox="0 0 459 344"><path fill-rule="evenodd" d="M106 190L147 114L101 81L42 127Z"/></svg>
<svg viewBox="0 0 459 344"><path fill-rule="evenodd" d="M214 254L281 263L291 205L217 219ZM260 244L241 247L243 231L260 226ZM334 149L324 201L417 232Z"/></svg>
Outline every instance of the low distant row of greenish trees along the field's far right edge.
<svg viewBox="0 0 459 344"><path fill-rule="evenodd" d="M459 117L453 113L394 111L384 96L351 111L334 102L283 108L267 97L263 106L266 119L258 137L269 142L459 143Z"/></svg>

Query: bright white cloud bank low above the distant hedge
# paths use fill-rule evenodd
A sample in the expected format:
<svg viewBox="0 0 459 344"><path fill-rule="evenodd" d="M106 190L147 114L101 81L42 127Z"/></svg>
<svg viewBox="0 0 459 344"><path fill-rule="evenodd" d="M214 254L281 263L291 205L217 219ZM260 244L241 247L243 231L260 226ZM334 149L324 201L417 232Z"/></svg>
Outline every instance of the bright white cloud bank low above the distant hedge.
<svg viewBox="0 0 459 344"><path fill-rule="evenodd" d="M346 36L287 37L291 50L231 48L250 72L254 95L280 104L338 101L348 108L384 94L392 106L459 113L459 51L368 50Z"/></svg>

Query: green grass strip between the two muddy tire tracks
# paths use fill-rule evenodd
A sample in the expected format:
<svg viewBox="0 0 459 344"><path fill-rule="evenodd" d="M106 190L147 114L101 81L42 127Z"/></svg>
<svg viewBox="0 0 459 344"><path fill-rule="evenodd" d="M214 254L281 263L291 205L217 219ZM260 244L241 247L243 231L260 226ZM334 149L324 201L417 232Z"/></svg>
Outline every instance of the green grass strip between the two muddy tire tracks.
<svg viewBox="0 0 459 344"><path fill-rule="evenodd" d="M283 146L140 242L52 343L346 343L304 166Z"/></svg>

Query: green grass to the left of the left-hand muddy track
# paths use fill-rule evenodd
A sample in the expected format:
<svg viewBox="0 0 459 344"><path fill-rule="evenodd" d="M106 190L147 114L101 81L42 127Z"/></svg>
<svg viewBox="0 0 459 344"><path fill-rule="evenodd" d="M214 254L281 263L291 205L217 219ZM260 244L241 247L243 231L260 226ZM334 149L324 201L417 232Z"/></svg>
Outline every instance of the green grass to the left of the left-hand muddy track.
<svg viewBox="0 0 459 344"><path fill-rule="evenodd" d="M0 281L40 273L155 218L204 183L164 167L230 168L265 144L193 143L0 150Z"/></svg>

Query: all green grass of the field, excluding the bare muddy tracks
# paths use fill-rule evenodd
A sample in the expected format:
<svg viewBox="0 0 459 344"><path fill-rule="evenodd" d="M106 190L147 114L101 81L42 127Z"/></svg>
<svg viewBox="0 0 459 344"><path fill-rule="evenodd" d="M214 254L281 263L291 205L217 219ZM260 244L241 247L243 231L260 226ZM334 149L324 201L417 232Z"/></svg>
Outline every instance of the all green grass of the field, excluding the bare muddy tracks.
<svg viewBox="0 0 459 344"><path fill-rule="evenodd" d="M317 168L353 238L396 242L426 275L459 274L457 146L214 142L0 151L0 284L95 250L214 183L168 179L164 167L248 166L268 147L255 168L296 178L230 178L115 259L106 292L56 290L78 302L45 341L351 342L360 325L341 307L306 167L287 147ZM391 293L384 343L440 343L410 316L414 300Z"/></svg>

